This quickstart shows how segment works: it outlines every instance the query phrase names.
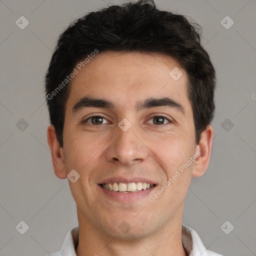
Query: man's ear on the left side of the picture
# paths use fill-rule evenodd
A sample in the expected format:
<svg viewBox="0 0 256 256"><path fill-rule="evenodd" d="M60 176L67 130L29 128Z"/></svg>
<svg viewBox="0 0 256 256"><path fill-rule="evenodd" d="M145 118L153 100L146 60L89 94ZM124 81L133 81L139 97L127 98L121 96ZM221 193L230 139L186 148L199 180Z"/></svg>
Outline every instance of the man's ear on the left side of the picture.
<svg viewBox="0 0 256 256"><path fill-rule="evenodd" d="M47 140L50 147L51 159L55 175L59 178L66 178L67 174L65 168L64 152L57 140L55 128L53 125L49 125L47 128Z"/></svg>

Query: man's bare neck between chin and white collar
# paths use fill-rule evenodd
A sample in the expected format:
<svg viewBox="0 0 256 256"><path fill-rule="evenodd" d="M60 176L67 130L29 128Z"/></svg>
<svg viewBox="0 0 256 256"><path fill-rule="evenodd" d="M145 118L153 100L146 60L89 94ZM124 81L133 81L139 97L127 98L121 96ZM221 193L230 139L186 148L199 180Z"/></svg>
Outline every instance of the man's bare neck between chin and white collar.
<svg viewBox="0 0 256 256"><path fill-rule="evenodd" d="M182 245L181 227L182 212L169 223L148 236L134 238L118 238L111 236L102 229L87 221L77 208L79 223L79 243L76 247L77 256L132 256L132 255L176 255L186 256Z"/></svg>

